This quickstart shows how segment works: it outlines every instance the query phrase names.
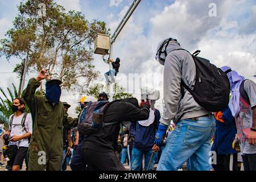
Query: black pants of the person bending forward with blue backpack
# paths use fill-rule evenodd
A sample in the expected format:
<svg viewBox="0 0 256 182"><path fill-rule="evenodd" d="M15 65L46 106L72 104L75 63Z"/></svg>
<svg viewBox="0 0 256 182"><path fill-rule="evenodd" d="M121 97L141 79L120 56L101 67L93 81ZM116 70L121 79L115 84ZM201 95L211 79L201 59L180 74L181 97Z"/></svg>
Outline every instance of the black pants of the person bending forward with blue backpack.
<svg viewBox="0 0 256 182"><path fill-rule="evenodd" d="M98 152L88 148L82 150L90 171L126 171L115 152Z"/></svg>

